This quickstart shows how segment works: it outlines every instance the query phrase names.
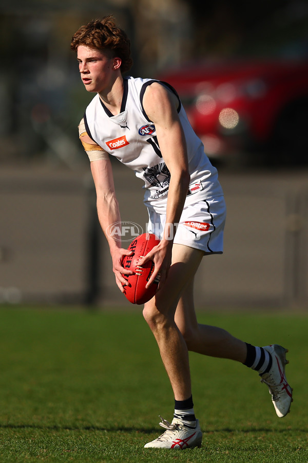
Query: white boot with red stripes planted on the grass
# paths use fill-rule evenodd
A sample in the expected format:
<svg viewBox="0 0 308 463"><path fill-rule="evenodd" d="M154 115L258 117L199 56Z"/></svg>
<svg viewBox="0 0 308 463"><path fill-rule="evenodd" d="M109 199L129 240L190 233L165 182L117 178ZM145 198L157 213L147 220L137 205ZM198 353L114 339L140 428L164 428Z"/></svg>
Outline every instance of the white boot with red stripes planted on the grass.
<svg viewBox="0 0 308 463"><path fill-rule="evenodd" d="M157 439L145 444L147 449L188 449L201 447L202 432L199 420L196 420L196 428L190 428L182 423L181 420L174 418L172 423L164 420L161 416L162 428L166 431Z"/></svg>

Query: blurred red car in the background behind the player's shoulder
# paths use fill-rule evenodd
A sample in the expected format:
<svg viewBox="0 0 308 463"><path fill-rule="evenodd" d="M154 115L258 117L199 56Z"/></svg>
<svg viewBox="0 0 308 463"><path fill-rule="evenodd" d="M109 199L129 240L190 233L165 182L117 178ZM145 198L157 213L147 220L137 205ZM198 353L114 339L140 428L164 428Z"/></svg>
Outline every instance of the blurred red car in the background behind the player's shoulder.
<svg viewBox="0 0 308 463"><path fill-rule="evenodd" d="M176 88L209 157L263 151L271 164L306 162L307 61L188 64L159 79Z"/></svg>

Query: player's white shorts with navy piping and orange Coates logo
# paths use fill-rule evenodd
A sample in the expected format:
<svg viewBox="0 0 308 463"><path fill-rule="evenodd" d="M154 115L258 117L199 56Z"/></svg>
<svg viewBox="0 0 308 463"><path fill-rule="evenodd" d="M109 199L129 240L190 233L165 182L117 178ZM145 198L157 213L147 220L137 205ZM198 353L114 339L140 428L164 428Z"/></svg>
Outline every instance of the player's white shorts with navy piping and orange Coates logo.
<svg viewBox="0 0 308 463"><path fill-rule="evenodd" d="M148 209L148 214L148 232L162 238L166 216L153 209ZM225 219L223 196L184 206L174 243L195 247L205 254L222 254Z"/></svg>

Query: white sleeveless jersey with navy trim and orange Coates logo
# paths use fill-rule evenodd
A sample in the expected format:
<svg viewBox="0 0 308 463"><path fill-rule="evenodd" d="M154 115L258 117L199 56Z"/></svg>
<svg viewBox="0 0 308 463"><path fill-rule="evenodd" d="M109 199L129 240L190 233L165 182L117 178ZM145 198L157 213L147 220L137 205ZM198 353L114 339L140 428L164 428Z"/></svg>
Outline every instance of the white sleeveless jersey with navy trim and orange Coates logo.
<svg viewBox="0 0 308 463"><path fill-rule="evenodd" d="M152 79L124 78L120 114L113 116L97 94L88 105L85 127L88 135L107 153L115 156L144 181L147 207L163 212L167 203L170 172L164 162L156 137L155 125L143 108L143 95ZM169 84L162 82L176 93ZM200 138L192 130L179 100L179 117L187 144L190 185L185 204L223 194L217 170L204 153Z"/></svg>

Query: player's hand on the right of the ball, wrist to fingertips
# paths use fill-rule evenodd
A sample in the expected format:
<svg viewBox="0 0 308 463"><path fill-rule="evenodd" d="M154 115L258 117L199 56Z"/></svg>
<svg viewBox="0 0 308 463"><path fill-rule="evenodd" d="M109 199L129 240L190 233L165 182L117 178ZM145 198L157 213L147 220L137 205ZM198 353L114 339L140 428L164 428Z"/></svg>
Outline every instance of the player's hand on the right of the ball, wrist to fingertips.
<svg viewBox="0 0 308 463"><path fill-rule="evenodd" d="M142 266L148 260L154 262L154 271L151 278L146 284L146 288L149 288L153 281L158 275L160 275L159 289L163 286L168 276L168 270L171 265L171 253L172 253L172 242L168 240L161 240L159 244L147 253L146 256L142 257L139 261L139 265Z"/></svg>

